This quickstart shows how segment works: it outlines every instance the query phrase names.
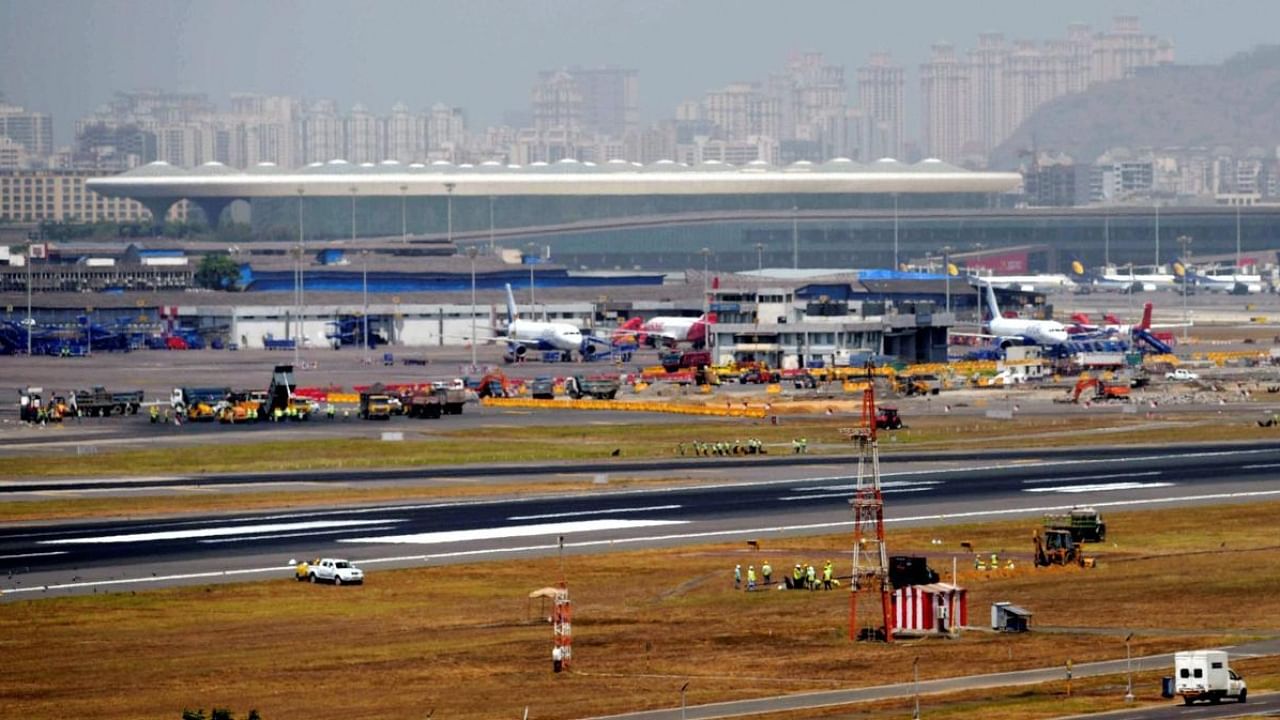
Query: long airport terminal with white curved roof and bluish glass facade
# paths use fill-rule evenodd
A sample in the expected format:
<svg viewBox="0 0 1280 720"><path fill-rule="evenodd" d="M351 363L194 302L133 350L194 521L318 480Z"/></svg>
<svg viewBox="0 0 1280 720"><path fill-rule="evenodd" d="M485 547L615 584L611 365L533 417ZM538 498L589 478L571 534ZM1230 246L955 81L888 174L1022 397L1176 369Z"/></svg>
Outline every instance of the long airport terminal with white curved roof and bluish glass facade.
<svg viewBox="0 0 1280 720"><path fill-rule="evenodd" d="M973 254L970 268L1042 273L1076 260L1169 264L1180 237L1194 241L1197 256L1280 246L1276 206L1016 208L1020 183L1016 173L940 160L332 160L296 170L152 163L87 187L137 200L156 217L187 200L207 218L250 222L260 238L278 242L355 236L452 241L481 251L532 247L529 254L568 269L888 268L895 259L925 263L950 246Z"/></svg>

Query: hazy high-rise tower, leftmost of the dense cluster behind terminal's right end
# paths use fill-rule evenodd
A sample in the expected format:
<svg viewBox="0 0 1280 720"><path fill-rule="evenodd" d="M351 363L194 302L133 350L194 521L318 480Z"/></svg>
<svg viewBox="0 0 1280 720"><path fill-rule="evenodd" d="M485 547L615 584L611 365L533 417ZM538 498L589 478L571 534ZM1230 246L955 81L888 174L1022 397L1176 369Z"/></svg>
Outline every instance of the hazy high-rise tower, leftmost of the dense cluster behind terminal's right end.
<svg viewBox="0 0 1280 720"><path fill-rule="evenodd" d="M934 45L929 61L920 65L920 90L924 94L920 119L925 152L959 161L965 143L973 137L969 68L950 44Z"/></svg>

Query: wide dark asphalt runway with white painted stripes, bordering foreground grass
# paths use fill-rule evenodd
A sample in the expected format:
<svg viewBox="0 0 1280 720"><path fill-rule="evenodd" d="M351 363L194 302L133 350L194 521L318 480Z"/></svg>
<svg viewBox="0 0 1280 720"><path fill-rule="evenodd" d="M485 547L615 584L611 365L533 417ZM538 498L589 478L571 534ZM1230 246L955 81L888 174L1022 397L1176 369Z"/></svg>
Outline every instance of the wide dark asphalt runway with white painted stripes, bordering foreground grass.
<svg viewBox="0 0 1280 720"><path fill-rule="evenodd" d="M372 571L371 582L376 582L376 570L383 568L549 555L557 551L559 537L566 552L581 553L824 534L845 532L851 524L847 461L791 465L771 460L751 468L710 460L650 464L662 465L664 471L682 466L686 477L696 478L681 487L10 524L0 529L0 574L5 575L0 578L0 600L279 578L289 574L289 559L316 555L351 557ZM622 466L639 471L645 464ZM590 477L590 466L573 468ZM694 468L698 470L689 470ZM520 470L489 469L493 475L509 471ZM396 473L404 474L402 482L417 482L413 474L433 475L429 470ZM489 479L484 469L470 473L474 475L451 477L444 471L434 475L434 482ZM326 477L325 482L333 482L333 474ZM352 473L344 482L376 477ZM288 482L324 478L300 473L288 475ZM1080 503L1142 509L1248 502L1280 498L1280 446L1111 448L1094 456L1083 451L886 456L882 478L891 525L1030 516ZM242 479L283 482L261 475ZM218 480L205 482L216 488ZM20 483L0 489L29 492ZM146 483L137 482L109 482L102 489L148 492ZM1121 532L1112 528L1112 533Z"/></svg>

